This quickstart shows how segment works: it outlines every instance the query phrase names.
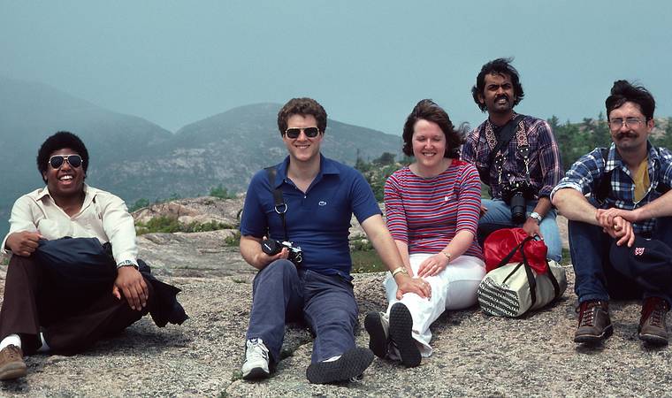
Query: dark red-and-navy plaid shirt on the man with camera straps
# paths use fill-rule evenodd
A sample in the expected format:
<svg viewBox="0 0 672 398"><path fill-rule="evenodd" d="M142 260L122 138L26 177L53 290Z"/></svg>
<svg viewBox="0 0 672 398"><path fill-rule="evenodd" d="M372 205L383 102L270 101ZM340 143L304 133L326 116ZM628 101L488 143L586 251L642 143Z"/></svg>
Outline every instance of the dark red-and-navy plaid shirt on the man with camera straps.
<svg viewBox="0 0 672 398"><path fill-rule="evenodd" d="M514 115L515 118L516 115ZM548 196L558 181L562 178L562 163L560 150L551 126L546 120L525 116L523 126L530 145L530 183L535 192L535 198ZM493 136L494 127L490 119L477 126L462 146L462 160L476 165L478 174L488 187L493 198L501 198L501 184L499 172L490 164L490 146L487 135ZM518 148L515 135L508 142L505 161L502 167L502 181L513 182L527 179L523 157L516 150Z"/></svg>

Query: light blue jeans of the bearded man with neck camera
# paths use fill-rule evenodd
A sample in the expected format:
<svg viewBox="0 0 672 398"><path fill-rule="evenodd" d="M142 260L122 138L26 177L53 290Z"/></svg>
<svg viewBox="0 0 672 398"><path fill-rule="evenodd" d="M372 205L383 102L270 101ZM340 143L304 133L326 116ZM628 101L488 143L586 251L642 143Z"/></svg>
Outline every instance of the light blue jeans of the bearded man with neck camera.
<svg viewBox="0 0 672 398"><path fill-rule="evenodd" d="M501 228L513 228L516 226L511 221L511 207L500 199L484 199L483 205L487 209L485 215L478 221L478 242L483 247L485 238L490 233ZM537 206L537 201L528 201L526 215L529 216ZM546 217L539 223L539 232L544 236L544 243L548 248L547 257L550 260L560 261L562 258L562 241L560 230L555 222L555 210L548 211Z"/></svg>

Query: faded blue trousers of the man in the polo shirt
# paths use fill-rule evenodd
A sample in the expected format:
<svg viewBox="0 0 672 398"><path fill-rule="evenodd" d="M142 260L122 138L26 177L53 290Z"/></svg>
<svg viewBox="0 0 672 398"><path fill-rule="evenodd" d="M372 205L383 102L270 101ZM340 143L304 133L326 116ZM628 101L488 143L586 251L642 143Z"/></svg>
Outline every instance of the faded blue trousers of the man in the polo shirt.
<svg viewBox="0 0 672 398"><path fill-rule="evenodd" d="M357 313L350 281L276 260L256 274L247 338L261 338L277 364L286 322L303 319L315 334L316 363L355 348Z"/></svg>

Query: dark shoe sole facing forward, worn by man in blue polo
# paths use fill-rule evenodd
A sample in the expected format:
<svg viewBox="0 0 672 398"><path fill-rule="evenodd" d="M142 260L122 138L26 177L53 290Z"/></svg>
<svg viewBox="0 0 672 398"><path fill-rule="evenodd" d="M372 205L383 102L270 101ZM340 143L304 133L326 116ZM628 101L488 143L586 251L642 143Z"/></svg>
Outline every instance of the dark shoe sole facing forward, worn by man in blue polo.
<svg viewBox="0 0 672 398"><path fill-rule="evenodd" d="M358 378L373 361L368 348L355 347L330 362L316 362L306 369L306 378L314 384L341 383Z"/></svg>

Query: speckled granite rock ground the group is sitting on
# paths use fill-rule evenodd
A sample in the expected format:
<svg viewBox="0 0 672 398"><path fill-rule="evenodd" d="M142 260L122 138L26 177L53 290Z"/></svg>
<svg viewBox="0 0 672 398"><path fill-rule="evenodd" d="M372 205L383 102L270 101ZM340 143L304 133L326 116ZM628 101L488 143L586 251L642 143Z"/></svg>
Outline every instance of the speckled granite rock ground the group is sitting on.
<svg viewBox="0 0 672 398"><path fill-rule="evenodd" d="M670 348L638 340L639 302L612 302L614 335L599 347L572 341L573 272L559 302L529 316L493 318L477 307L445 313L431 331L434 354L406 369L374 359L363 380L336 386L305 377L312 338L288 325L284 359L270 379L241 379L255 270L225 244L231 231L152 233L141 258L182 289L191 318L158 328L146 317L75 356L34 355L26 378L0 383L2 396L670 396ZM4 271L0 270L0 287ZM360 322L386 308L385 274L355 275ZM366 347L368 336L356 333Z"/></svg>

